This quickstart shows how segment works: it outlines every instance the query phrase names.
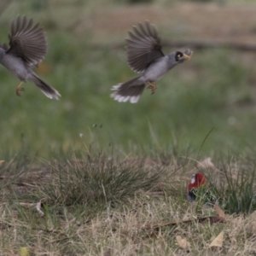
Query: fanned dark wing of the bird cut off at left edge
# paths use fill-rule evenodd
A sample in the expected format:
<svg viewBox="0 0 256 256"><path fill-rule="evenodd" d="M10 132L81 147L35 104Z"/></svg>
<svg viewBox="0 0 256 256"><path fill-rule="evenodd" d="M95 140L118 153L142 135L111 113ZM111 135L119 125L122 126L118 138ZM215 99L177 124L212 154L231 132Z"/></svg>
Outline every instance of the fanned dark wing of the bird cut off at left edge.
<svg viewBox="0 0 256 256"><path fill-rule="evenodd" d="M27 20L26 16L12 21L9 46L7 54L22 58L29 66L36 66L47 52L43 28L39 23L33 26L32 19Z"/></svg>

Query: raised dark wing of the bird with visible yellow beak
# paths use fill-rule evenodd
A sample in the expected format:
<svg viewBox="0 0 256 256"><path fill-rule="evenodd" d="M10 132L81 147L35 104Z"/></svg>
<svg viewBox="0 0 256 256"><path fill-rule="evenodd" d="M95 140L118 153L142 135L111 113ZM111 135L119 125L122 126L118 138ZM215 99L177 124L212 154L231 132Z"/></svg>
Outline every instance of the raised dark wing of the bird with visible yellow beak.
<svg viewBox="0 0 256 256"><path fill-rule="evenodd" d="M161 51L160 37L152 24L145 22L133 26L133 32L128 32L127 61L132 70L142 73L156 59L164 56Z"/></svg>

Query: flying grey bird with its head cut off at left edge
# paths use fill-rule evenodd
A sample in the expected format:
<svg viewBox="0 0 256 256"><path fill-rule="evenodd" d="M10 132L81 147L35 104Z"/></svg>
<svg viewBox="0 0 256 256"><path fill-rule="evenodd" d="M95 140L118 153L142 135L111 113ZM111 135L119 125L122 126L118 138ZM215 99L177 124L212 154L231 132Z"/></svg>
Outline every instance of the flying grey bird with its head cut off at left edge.
<svg viewBox="0 0 256 256"><path fill-rule="evenodd" d="M44 59L47 52L47 43L42 27L39 23L33 26L32 19L22 19L18 16L11 24L9 34L9 47L0 44L0 63L9 69L18 79L20 84L16 88L16 95L24 91L21 84L30 81L38 86L45 96L58 100L60 93L46 84L32 71L32 67L38 67L38 63Z"/></svg>

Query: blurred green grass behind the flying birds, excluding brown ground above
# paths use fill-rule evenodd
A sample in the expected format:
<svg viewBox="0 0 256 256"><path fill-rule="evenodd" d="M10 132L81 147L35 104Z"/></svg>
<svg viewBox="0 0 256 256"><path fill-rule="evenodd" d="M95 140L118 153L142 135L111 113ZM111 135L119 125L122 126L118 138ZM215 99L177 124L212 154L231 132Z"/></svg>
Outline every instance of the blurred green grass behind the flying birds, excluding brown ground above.
<svg viewBox="0 0 256 256"><path fill-rule="evenodd" d="M13 9L3 16L6 26L1 38L5 41L8 14ZM102 125L97 137L102 146L113 143L126 152L131 145L139 151L168 148L173 143L199 151L210 131L201 148L206 154L253 147L254 88L250 80L255 68L241 62L240 53L224 49L195 52L191 61L158 82L154 96L145 90L137 104L120 104L109 97L111 87L136 76L126 63L125 49L93 49L93 38L101 32L67 32L67 24L62 25L63 18L57 17L56 26L46 26L49 53L44 63L49 70L40 76L61 92L61 101L50 101L30 83L25 84L26 92L20 98L15 96L18 80L1 67L3 148L20 148L20 134L43 155L49 149L80 148L90 143L95 124Z"/></svg>

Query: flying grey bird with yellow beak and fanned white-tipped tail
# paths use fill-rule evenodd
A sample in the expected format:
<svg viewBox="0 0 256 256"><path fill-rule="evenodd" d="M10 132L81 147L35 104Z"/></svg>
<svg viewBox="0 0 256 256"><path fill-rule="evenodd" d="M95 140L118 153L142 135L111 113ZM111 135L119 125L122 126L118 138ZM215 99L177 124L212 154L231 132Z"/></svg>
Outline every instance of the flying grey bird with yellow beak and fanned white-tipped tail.
<svg viewBox="0 0 256 256"><path fill-rule="evenodd" d="M144 25L139 23L138 26L133 26L133 32L128 33L130 38L126 39L127 61L131 69L140 75L123 84L114 85L111 97L118 102L137 103L146 84L154 94L157 89L154 82L178 63L189 60L193 52L186 49L184 52L173 51L164 55L160 37L148 20Z"/></svg>

